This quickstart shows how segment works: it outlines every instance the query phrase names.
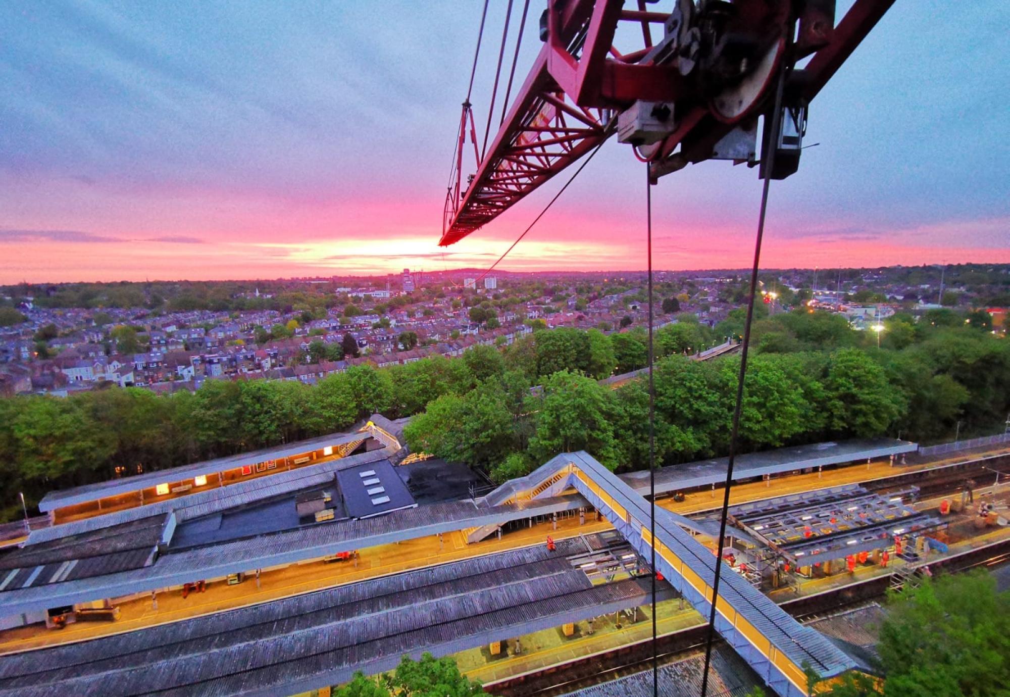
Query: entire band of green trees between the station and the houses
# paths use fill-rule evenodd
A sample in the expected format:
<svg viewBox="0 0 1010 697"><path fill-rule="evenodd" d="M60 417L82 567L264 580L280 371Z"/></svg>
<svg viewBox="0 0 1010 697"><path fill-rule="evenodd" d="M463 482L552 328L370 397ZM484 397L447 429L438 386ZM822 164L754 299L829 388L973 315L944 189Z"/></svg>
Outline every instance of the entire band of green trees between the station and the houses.
<svg viewBox="0 0 1010 697"><path fill-rule="evenodd" d="M798 312L763 319L769 324L761 332L755 326L746 449L899 431L935 440L952 434L958 420L965 435L1006 417L1005 340L954 316L945 325L920 319L900 349L877 352L874 342L863 351L864 332L829 317ZM690 319L655 332L656 442L667 464L722 454L729 432L735 359L697 363L679 355L721 341L731 327L713 332ZM776 332L776 341L762 342ZM21 491L35 502L53 489L109 479L117 467L134 474L290 442L344 430L376 412L417 414L406 435L413 450L485 467L498 479L579 449L637 469L646 462L644 385L610 390L596 381L646 361L640 329L565 328L501 350L475 346L460 359L358 366L314 386L208 380L195 393L109 388L3 399L0 510L15 516Z"/></svg>

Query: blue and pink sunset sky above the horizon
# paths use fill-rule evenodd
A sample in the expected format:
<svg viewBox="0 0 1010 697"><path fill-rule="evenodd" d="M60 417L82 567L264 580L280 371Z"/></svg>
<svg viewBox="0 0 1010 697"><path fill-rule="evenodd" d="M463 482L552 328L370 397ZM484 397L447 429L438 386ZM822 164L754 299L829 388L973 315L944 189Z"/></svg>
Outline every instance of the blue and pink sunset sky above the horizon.
<svg viewBox="0 0 1010 697"><path fill-rule="evenodd" d="M482 4L0 3L0 283L489 265L567 176L437 246ZM773 183L763 266L1010 263L1008 25L1003 0L895 3ZM502 268L643 268L643 168L608 142ZM655 266L746 266L760 186L722 162L661 180Z"/></svg>

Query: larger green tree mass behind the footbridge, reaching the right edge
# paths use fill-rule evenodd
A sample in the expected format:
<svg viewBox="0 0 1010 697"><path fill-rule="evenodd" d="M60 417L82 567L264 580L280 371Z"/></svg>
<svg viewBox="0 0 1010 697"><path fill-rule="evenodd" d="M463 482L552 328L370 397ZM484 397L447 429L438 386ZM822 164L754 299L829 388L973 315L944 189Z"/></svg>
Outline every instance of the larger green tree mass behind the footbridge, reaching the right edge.
<svg viewBox="0 0 1010 697"><path fill-rule="evenodd" d="M855 331L826 313L779 314L754 329L756 355L741 419L744 451L883 434L935 441L952 435L958 421L962 435L991 432L1010 409L1010 344L964 315L940 311L915 324L896 316L885 325L881 351L875 332ZM720 331L731 327L717 325L714 333ZM705 333L689 322L656 333L658 354L668 355L654 376L662 465L728 449L738 359L699 363L672 350L686 350ZM575 450L615 470L643 469L644 381L610 390L593 379L600 377L595 357L605 354L608 340L618 365L626 361L621 369L643 365L642 334L538 332L530 343L511 346L503 370L475 389L429 403L408 425L407 442L414 451L487 467L497 481ZM528 384L542 389L529 395L523 391Z"/></svg>

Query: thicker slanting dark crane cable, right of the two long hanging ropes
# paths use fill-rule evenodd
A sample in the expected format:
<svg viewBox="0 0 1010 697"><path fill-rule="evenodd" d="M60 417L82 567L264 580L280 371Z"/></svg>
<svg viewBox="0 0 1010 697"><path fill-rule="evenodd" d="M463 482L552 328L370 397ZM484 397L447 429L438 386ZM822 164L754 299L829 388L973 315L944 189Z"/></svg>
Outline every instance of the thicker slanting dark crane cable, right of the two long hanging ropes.
<svg viewBox="0 0 1010 697"><path fill-rule="evenodd" d="M782 119L782 94L786 84L786 70L780 69L778 85L775 92L775 105L772 110L769 137L763 155L763 174L765 183L762 187L761 209L758 214L758 234L754 238L753 266L750 269L750 290L747 296L747 314L743 322L743 340L740 346L740 369L736 379L736 402L733 407L733 425L729 434L729 458L726 464L726 481L723 485L722 510L719 514L719 540L715 556L715 580L712 584L712 607L708 616L708 638L705 641L705 666L702 673L701 697L708 695L708 671L712 662L712 642L715 638L715 612L719 598L719 579L722 571L722 555L726 540L726 518L729 514L729 490L733 483L733 465L736 461L736 446L740 429L740 412L743 407L743 380L747 370L747 354L750 347L750 325L754 315L754 295L758 292L758 269L761 263L761 245L765 236L765 219L768 213L768 189L772 182L772 172L775 167L775 151L778 139L780 121ZM766 118L768 118L766 116Z"/></svg>

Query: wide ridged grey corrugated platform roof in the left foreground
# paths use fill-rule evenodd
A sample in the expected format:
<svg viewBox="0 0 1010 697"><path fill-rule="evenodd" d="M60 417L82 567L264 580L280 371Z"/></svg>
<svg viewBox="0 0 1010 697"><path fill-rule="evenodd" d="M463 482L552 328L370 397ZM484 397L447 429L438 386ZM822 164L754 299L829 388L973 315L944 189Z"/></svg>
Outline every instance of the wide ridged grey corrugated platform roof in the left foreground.
<svg viewBox="0 0 1010 697"><path fill-rule="evenodd" d="M580 540L340 586L0 662L0 694L290 694L644 601L647 583L593 586ZM669 596L669 588L664 592Z"/></svg>

